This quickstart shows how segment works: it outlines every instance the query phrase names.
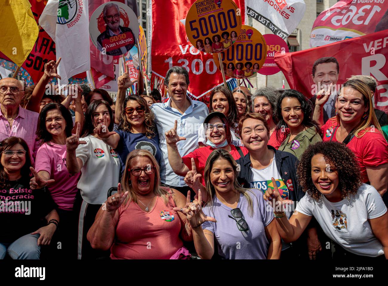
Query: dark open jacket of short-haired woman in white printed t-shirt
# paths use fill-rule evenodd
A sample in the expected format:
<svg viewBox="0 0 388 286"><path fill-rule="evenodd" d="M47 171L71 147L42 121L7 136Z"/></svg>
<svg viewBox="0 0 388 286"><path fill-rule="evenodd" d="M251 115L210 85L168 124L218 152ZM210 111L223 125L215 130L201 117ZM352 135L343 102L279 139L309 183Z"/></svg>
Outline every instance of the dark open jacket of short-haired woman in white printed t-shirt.
<svg viewBox="0 0 388 286"><path fill-rule="evenodd" d="M267 147L275 152L276 168L282 176L284 184L286 184L289 189L289 200L299 202L305 193L302 191L302 188L298 184L298 180L296 178L296 165L298 163L298 159L291 153L276 150L270 145ZM244 188L249 188L250 182L253 179L251 156L248 153L243 158L236 160L236 162L240 165L237 180Z"/></svg>

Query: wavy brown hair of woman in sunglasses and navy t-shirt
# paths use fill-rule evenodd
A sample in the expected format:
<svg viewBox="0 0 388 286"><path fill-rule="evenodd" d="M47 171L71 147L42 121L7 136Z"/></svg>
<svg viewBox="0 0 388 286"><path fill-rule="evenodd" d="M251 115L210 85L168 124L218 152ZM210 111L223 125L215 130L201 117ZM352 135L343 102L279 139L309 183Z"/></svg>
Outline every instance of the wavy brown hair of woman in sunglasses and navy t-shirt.
<svg viewBox="0 0 388 286"><path fill-rule="evenodd" d="M149 108L149 106L148 106L147 102L144 100L144 98L139 97L139 95L130 95L129 97L127 97L124 100L123 106L121 109L119 129L126 131L126 132L130 132L130 129L131 129L131 124L128 122L128 120L126 118L126 114L125 114L126 103L128 102L128 100L134 100L138 104L143 105L145 107L145 111L144 111L145 136L149 139L155 137L156 126L155 126L154 113L151 111L151 109ZM109 129L109 131L110 131L110 129Z"/></svg>

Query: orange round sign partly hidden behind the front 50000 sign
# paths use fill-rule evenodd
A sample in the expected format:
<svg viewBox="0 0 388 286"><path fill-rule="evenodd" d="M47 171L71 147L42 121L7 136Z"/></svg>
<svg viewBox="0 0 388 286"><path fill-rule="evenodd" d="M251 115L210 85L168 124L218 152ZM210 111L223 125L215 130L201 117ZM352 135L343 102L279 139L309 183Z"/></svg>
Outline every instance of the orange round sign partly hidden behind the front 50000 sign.
<svg viewBox="0 0 388 286"><path fill-rule="evenodd" d="M239 39L226 51L221 53L225 76L238 79L251 77L265 63L267 44L263 35L247 25L241 26ZM216 66L220 69L217 55L213 55Z"/></svg>

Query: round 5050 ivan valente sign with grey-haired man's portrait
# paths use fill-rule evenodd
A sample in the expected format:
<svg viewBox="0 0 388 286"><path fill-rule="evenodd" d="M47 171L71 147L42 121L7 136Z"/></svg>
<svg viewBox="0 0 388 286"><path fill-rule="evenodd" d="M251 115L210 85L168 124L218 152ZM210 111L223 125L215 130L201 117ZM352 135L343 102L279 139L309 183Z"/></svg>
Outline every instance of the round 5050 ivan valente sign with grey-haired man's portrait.
<svg viewBox="0 0 388 286"><path fill-rule="evenodd" d="M89 21L90 39L103 54L121 56L139 38L139 22L132 9L120 2L107 2L95 9Z"/></svg>

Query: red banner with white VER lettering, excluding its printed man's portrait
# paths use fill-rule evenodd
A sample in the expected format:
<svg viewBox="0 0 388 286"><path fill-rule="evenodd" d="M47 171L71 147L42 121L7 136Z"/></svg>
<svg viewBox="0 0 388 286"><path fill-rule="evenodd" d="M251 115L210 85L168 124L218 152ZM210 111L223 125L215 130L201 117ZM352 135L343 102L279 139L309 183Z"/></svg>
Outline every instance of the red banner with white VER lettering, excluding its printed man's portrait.
<svg viewBox="0 0 388 286"><path fill-rule="evenodd" d="M311 98L317 91L312 66L315 60L327 56L338 60L340 72L337 85L343 84L351 75L374 77L378 83L375 107L388 113L388 30L304 51L276 53L275 62L289 86Z"/></svg>

